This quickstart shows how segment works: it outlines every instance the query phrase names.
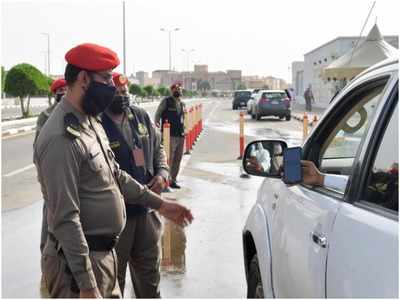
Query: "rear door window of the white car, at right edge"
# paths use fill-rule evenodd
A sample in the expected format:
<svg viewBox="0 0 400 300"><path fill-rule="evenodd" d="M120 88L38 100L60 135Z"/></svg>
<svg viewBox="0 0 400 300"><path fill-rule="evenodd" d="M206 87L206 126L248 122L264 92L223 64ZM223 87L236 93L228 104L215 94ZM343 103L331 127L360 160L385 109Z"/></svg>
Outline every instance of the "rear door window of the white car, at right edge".
<svg viewBox="0 0 400 300"><path fill-rule="evenodd" d="M366 202L398 212L399 210L399 112L391 117L377 151L364 191Z"/></svg>

